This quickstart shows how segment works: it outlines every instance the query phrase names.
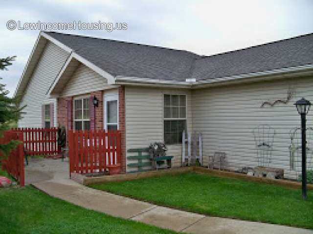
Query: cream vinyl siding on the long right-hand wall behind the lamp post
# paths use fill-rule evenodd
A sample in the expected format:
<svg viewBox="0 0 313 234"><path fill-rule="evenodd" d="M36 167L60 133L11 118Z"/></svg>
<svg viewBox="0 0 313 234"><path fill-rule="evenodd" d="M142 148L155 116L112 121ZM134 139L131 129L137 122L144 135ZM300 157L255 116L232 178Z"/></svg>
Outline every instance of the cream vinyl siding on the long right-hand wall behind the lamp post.
<svg viewBox="0 0 313 234"><path fill-rule="evenodd" d="M273 107L264 101L286 99L289 88L295 96L288 104ZM312 78L281 79L241 85L228 85L192 91L193 128L203 135L203 156L225 152L229 169L257 166L253 128L268 124L275 129L270 167L289 171L289 145L291 128L300 125L300 116L293 103L299 98L313 101ZM312 125L313 112L309 112L307 125Z"/></svg>

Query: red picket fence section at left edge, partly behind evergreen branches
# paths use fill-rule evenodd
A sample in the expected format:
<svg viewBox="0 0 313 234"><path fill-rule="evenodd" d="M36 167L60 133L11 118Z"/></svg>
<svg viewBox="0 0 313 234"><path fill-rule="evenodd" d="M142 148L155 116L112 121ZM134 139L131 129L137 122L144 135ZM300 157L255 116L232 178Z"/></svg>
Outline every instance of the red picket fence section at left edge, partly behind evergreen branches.
<svg viewBox="0 0 313 234"><path fill-rule="evenodd" d="M5 131L3 133L3 137L0 138L0 144L7 144L11 140L19 140L22 142L22 133ZM7 156L0 154L0 159L2 169L7 171L11 176L15 177L15 179L20 182L20 186L23 187L25 185L23 144L19 144Z"/></svg>

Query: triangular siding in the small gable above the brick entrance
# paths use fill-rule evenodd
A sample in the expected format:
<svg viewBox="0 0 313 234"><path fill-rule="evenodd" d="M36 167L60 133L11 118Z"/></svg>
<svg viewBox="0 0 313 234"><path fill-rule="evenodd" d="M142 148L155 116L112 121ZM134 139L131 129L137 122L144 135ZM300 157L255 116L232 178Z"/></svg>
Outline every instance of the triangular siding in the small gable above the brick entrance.
<svg viewBox="0 0 313 234"><path fill-rule="evenodd" d="M103 90L108 85L107 79L80 64L73 76L68 80L61 96L69 97L93 91Z"/></svg>

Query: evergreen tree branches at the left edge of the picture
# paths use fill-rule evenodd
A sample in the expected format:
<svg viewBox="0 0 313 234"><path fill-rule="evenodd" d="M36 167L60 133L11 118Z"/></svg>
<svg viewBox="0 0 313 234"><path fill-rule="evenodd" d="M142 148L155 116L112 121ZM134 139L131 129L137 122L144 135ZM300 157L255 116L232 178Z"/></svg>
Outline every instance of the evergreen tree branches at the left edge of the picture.
<svg viewBox="0 0 313 234"><path fill-rule="evenodd" d="M0 59L0 70L7 70L7 66L12 65L15 56ZM2 78L0 78L2 79ZM16 124L21 117L21 110L18 105L18 98L8 97L9 91L5 89L5 84L0 83L0 137L3 136L5 130L9 130L12 124ZM8 144L0 144L2 155L14 149L19 142L11 141Z"/></svg>

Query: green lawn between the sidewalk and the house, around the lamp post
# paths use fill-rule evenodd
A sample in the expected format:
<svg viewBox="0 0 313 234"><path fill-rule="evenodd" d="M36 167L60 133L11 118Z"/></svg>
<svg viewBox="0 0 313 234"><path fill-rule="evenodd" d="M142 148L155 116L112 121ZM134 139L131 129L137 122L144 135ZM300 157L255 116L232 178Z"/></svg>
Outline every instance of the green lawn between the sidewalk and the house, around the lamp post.
<svg viewBox="0 0 313 234"><path fill-rule="evenodd" d="M195 172L90 187L195 213L313 229L313 191Z"/></svg>

